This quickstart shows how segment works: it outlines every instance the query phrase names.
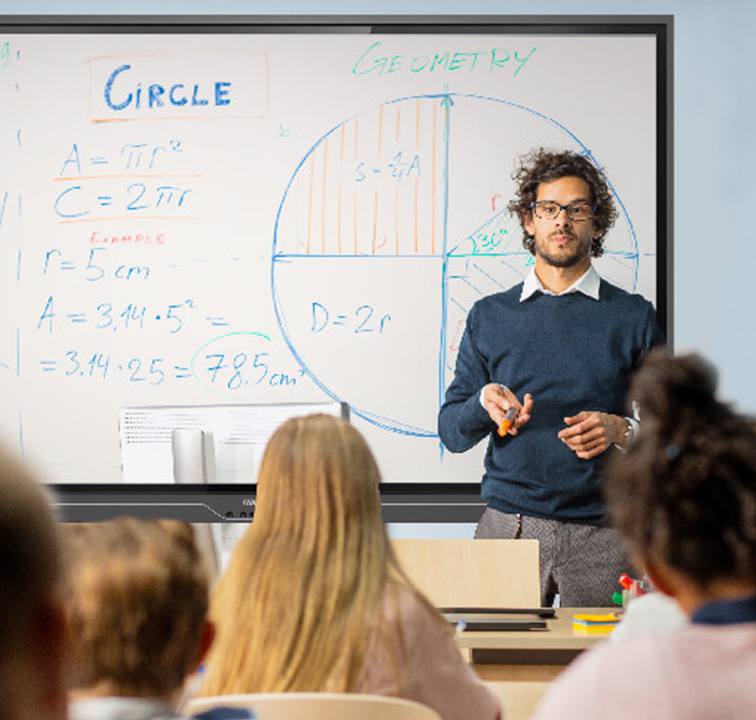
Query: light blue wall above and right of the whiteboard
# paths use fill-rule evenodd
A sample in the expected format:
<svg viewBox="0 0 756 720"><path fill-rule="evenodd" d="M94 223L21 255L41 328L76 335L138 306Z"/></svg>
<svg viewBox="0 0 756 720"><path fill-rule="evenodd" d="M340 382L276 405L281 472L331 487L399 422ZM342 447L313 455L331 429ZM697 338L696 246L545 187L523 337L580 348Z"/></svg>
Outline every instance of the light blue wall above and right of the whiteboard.
<svg viewBox="0 0 756 720"><path fill-rule="evenodd" d="M756 4L750 0L70 0L65 10L59 0L0 0L0 14L376 12L674 15L675 351L706 355L720 369L723 396L756 415Z"/></svg>

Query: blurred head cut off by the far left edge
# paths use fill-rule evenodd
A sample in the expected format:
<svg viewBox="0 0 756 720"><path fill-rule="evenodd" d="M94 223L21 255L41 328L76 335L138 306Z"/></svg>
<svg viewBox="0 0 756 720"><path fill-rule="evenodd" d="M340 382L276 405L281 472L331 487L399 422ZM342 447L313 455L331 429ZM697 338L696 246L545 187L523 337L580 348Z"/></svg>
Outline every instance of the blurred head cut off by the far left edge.
<svg viewBox="0 0 756 720"><path fill-rule="evenodd" d="M0 449L0 714L66 715L60 548L41 489Z"/></svg>

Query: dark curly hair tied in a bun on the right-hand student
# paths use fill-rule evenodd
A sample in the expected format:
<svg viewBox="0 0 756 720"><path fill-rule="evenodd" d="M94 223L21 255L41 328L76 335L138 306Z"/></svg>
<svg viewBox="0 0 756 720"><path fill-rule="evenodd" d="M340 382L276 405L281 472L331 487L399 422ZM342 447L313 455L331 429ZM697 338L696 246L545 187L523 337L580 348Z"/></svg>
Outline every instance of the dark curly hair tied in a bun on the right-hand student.
<svg viewBox="0 0 756 720"><path fill-rule="evenodd" d="M605 485L628 550L704 590L756 579L756 431L715 398L716 385L700 356L650 352L630 387L641 428Z"/></svg>

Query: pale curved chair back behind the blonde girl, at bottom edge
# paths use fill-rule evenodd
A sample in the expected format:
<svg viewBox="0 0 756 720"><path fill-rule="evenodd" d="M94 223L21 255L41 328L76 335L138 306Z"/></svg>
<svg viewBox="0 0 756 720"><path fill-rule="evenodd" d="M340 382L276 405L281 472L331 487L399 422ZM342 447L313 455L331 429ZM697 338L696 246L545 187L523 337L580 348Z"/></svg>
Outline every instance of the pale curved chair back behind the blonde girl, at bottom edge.
<svg viewBox="0 0 756 720"><path fill-rule="evenodd" d="M441 720L412 700L356 693L257 693L194 698L184 708L197 715L216 707L247 708L256 720Z"/></svg>

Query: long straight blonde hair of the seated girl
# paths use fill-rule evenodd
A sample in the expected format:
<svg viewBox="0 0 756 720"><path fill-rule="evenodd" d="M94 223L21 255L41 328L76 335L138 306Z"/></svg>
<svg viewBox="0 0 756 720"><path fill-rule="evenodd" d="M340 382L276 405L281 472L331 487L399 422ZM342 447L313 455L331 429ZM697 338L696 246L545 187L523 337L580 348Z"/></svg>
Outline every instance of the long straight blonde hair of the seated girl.
<svg viewBox="0 0 756 720"><path fill-rule="evenodd" d="M381 626L385 591L410 587L379 482L348 422L311 415L278 429L254 521L213 594L218 635L201 695L359 689L371 639L397 631Z"/></svg>

